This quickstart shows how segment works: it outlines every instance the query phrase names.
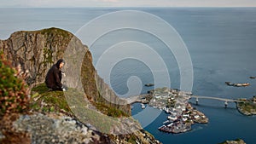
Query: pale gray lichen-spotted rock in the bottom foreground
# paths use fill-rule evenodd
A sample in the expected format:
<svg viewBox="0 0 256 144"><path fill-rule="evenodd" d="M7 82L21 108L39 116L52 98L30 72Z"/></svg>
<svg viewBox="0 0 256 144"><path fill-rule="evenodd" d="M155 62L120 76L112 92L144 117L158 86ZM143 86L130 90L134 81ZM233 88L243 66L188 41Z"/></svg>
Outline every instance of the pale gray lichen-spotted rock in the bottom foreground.
<svg viewBox="0 0 256 144"><path fill-rule="evenodd" d="M21 115L14 123L18 131L32 135L32 143L104 143L104 135L90 130L86 125L70 117L58 115Z"/></svg>

